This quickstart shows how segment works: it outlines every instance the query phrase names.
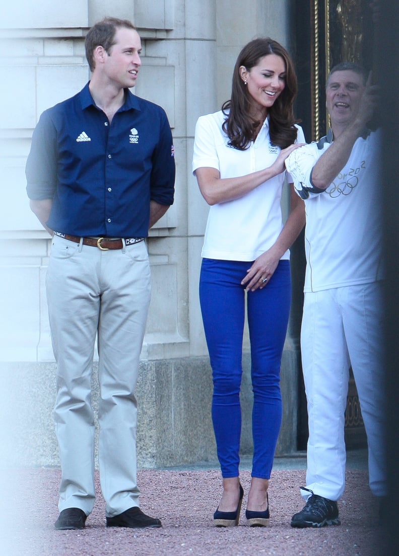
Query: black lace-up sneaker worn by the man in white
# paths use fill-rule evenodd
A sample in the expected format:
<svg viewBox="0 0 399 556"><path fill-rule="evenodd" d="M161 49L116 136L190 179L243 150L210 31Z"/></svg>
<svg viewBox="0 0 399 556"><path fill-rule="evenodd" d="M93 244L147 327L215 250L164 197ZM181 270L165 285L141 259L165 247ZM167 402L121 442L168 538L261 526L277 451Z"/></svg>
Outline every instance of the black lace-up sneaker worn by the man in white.
<svg viewBox="0 0 399 556"><path fill-rule="evenodd" d="M308 489L302 489L308 490ZM338 504L334 500L328 500L318 494L308 498L301 512L294 514L291 518L291 527L324 527L324 525L341 525L338 518Z"/></svg>

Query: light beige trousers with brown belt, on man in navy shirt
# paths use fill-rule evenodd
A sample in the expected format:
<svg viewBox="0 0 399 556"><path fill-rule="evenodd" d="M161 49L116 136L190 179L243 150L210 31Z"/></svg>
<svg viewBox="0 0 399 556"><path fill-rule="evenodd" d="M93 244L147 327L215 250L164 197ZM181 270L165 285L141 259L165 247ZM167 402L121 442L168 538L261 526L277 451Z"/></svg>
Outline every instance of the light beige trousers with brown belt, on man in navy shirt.
<svg viewBox="0 0 399 556"><path fill-rule="evenodd" d="M106 515L139 505L135 386L150 301L144 241L101 251L54 236L47 298L57 360L58 508L93 508L93 350L98 332L99 464Z"/></svg>

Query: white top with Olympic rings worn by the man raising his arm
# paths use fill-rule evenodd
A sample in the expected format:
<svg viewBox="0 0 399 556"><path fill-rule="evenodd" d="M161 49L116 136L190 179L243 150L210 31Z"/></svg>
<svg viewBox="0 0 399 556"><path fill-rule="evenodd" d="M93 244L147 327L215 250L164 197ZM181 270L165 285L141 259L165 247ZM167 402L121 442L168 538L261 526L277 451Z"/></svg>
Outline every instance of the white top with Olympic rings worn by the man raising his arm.
<svg viewBox="0 0 399 556"><path fill-rule="evenodd" d="M322 193L305 198L304 291L368 284L383 278L380 216L380 130L358 137L349 160ZM295 189L312 188L311 171L331 143L293 151L285 166Z"/></svg>

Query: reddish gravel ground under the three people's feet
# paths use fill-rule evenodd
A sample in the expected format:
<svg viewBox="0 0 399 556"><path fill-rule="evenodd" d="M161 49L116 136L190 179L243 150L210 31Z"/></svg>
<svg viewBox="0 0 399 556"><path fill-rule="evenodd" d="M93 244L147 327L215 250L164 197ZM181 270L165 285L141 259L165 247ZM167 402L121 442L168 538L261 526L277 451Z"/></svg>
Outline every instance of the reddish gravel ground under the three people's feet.
<svg viewBox="0 0 399 556"><path fill-rule="evenodd" d="M238 527L215 528L212 515L221 493L219 470L139 470L144 512L160 517L160 529L105 527L105 503L96 475L97 499L86 528L56 531L59 469L18 469L1 490L9 500L0 523L2 556L376 556L382 554L376 502L367 471L348 469L339 502L340 527L293 529L290 516L302 508L303 469L273 471L269 487L270 527L250 528L243 509ZM250 471L241 474L248 494ZM6 492L4 492L6 490ZM8 491L8 492L7 492Z"/></svg>

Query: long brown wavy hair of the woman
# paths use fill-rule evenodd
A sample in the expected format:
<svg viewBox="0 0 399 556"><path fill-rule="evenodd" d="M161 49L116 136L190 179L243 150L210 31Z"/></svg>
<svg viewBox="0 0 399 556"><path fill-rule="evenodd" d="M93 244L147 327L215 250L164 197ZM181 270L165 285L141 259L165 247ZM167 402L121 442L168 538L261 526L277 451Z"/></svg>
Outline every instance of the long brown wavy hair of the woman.
<svg viewBox="0 0 399 556"><path fill-rule="evenodd" d="M257 66L260 58L268 54L277 54L283 58L286 68L285 87L268 108L270 140L280 148L288 147L297 138L297 128L293 103L297 95L297 76L288 52L281 44L271 38L255 38L244 46L235 62L231 98L223 103L221 110L226 115L223 131L230 138L230 145L244 151L255 138L255 129L261 122L254 122L250 117L250 96L240 77L240 66L249 71ZM263 123L263 122L262 122Z"/></svg>

